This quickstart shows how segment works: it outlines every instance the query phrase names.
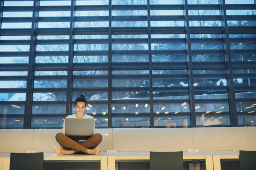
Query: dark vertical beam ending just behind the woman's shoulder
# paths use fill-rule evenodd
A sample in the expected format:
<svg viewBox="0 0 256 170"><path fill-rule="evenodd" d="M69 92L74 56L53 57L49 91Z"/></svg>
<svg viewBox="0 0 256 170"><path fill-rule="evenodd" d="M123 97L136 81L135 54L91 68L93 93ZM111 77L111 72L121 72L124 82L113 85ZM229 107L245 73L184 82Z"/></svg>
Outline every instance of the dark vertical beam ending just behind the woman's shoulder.
<svg viewBox="0 0 256 170"><path fill-rule="evenodd" d="M72 113L72 88L73 88L73 61L74 61L74 28L75 28L76 0L71 0L70 16L70 39L68 51L68 69L67 69L67 104L66 116Z"/></svg>

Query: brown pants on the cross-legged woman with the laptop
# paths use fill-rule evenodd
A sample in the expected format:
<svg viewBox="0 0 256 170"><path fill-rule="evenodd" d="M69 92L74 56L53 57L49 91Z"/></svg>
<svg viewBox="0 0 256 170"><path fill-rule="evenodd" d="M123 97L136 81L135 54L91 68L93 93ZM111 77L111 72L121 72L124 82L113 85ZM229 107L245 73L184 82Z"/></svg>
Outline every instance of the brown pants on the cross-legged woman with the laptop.
<svg viewBox="0 0 256 170"><path fill-rule="evenodd" d="M73 141L63 133L57 133L56 141L61 145L63 149L74 149L86 153L87 148L94 149L102 141L102 135L100 133L94 134L86 141Z"/></svg>

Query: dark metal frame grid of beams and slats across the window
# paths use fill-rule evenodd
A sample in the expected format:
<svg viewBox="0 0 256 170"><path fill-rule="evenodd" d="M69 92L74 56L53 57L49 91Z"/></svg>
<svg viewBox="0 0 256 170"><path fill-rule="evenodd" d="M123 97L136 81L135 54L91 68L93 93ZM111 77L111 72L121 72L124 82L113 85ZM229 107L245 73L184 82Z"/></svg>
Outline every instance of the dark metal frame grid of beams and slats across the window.
<svg viewBox="0 0 256 170"><path fill-rule="evenodd" d="M190 124L191 127L196 126L196 115L195 115L195 102L228 102L230 110L230 122L232 127L237 127L238 125L238 113L236 111L236 103L239 101L248 101L247 99L236 99L235 98L235 88L233 78L241 76L241 74L233 74L233 69L255 69L256 62L243 62L239 63L236 61L231 61L231 54L255 54L256 50L233 50L230 49L230 42L255 42L253 38L229 38L229 34L256 34L256 26L228 26L228 20L255 20L253 15L228 15L226 10L242 10L256 9L256 4L225 4L225 0L219 0L218 5L191 5L187 3L187 0L183 0L182 5L150 5L149 0L147 0L146 5L112 5L112 1L109 1L109 5L100 6L76 6L76 0L71 0L71 6L40 6L39 0L34 0L33 6L6 6L4 7L4 0L0 0L0 35L30 35L30 40L1 40L0 45L30 45L29 52L0 52L0 57L2 56L29 56L29 63L17 63L17 64L0 64L0 71L28 71L27 76L0 76L1 80L25 80L27 81L26 89L0 89L0 92L26 92L26 101L14 101L12 104L25 104L24 111L24 121L23 128L31 128L31 118L32 118L32 105L39 101L33 101L33 92L67 92L67 101L56 101L55 103L66 103L66 116L70 115L72 112L72 94L73 92L108 92L108 128L112 127L112 104L117 104L118 101L112 100L112 92L129 92L134 90L139 90L142 92L148 92L148 87L112 87L113 79L131 79L132 76L124 75L112 75L113 70L149 70L148 80L149 80L149 104L150 104L150 127L154 127L154 109L153 103L157 102L157 99L153 99L153 91L189 91L189 114L190 114ZM70 11L70 17L39 17L40 11ZM91 16L91 17L76 17L76 11L109 11L108 16ZM147 10L147 16L112 16L112 11L115 10ZM184 14L181 16L151 16L150 10L183 10ZM216 16L189 16L189 10L219 10L220 15ZM3 17L3 12L33 12L31 17ZM30 22L32 19L32 29L2 29L2 23L10 22ZM50 29L38 29L38 22L56 22L58 20L70 22L69 28L50 28ZM76 21L108 21L108 27L100 28L75 28ZM147 21L147 27L112 27L112 21ZM160 20L182 20L185 22L184 26L179 27L151 27L151 21ZM220 20L221 27L197 27L189 26L189 21L191 20ZM93 39L93 40L75 40L74 35L108 35L108 39ZM145 34L148 38L142 39L127 39L119 40L113 39L112 35L128 35L128 34ZM151 38L151 34L185 34L185 38L179 39L161 39L161 38ZM190 34L221 34L222 38L211 38L211 39L196 39L190 38ZM37 40L38 35L69 35L70 38L67 40ZM204 42L222 42L224 50L192 50L191 43L197 41ZM108 51L75 51L74 44L108 44ZM112 44L115 43L148 43L148 50L130 50L130 51L112 51ZM186 50L152 50L151 43L186 43ZM36 46L40 44L69 44L68 51L61 52L36 52ZM200 54L224 54L224 62L205 62L202 65L200 62L193 62L192 64L192 53ZM166 55L169 53L186 55L186 62L152 62L152 55ZM115 63L112 62L113 55L148 55L148 62L140 63ZM68 56L68 63L35 63L36 56ZM108 55L108 62L106 63L73 63L74 55ZM153 87L153 79L156 78L152 75L153 69L160 70L176 70L176 69L187 69L188 74L188 87ZM210 77L226 77L227 78L227 93L228 99L223 100L204 100L198 101L195 99L194 92L206 91L206 90L218 90L224 91L223 87L194 87L193 78L203 78L202 75L193 75L194 69L225 69L226 75L209 75ZM67 71L66 76L35 76L35 71ZM100 76L79 76L74 75L74 70L108 70L108 75ZM157 78L163 78L166 75L158 76ZM175 79L180 75L168 75L168 78ZM242 75L244 76L244 75ZM183 76L184 77L184 76ZM246 77L255 77L255 74L246 75ZM73 78L85 78L85 79L108 79L108 87L103 88L73 88ZM145 78L145 75L138 75L137 78ZM184 77L185 78L185 77ZM67 88L34 88L34 80L52 80L52 79L67 79ZM239 86L236 90L256 90L256 86ZM144 99L140 100L143 101ZM100 104L100 101L92 101ZM128 101L122 101L128 102ZM129 101L130 103L133 101ZM136 102L136 101L134 101ZM148 102L148 100L145 100ZM165 102L175 103L175 101L167 100ZM41 102L47 103L47 102ZM49 103L49 102L48 102ZM1 101L0 105L10 104L10 102ZM148 114L148 113L147 113Z"/></svg>

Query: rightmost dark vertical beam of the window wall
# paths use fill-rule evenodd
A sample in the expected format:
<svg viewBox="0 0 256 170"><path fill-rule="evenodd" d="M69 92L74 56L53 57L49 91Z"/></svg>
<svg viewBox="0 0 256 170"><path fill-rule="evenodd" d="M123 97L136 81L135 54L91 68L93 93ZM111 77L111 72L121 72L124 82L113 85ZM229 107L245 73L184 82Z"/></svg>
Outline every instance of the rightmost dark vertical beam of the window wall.
<svg viewBox="0 0 256 170"><path fill-rule="evenodd" d="M226 5L225 0L219 0L220 14L221 14L221 27L224 30L222 33L223 48L224 48L224 58L226 66L226 76L227 76L227 94L228 94L228 103L230 110L230 123L231 127L238 126L237 111L236 111L236 96L235 96L235 87L233 81L233 68L231 61L231 52L230 52L230 40L229 32L227 26L227 14L226 14Z"/></svg>

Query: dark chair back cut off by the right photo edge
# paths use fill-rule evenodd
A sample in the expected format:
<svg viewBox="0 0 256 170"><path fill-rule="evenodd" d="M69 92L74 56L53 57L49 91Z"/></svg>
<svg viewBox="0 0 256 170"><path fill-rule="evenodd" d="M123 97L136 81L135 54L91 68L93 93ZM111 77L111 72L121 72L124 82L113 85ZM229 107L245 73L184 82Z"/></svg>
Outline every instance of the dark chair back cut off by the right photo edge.
<svg viewBox="0 0 256 170"><path fill-rule="evenodd" d="M240 170L256 170L256 151L240 150Z"/></svg>

